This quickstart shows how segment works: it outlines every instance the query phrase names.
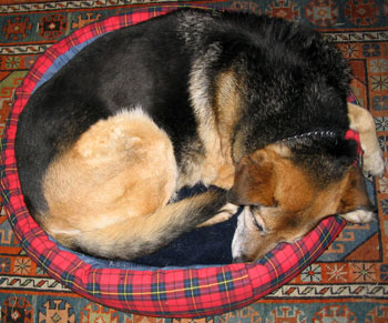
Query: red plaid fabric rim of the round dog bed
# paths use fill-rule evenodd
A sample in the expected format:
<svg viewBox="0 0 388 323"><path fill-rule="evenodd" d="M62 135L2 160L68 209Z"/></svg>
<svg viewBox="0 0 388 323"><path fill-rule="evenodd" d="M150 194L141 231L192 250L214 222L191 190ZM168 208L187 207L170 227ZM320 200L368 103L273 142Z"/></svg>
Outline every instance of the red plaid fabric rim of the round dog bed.
<svg viewBox="0 0 388 323"><path fill-rule="evenodd" d="M2 140L1 194L9 221L28 254L52 277L72 291L106 306L152 316L215 315L247 305L288 282L317 259L343 230L345 221L330 216L303 240L280 244L253 264L174 270L96 269L75 253L63 251L29 214L14 158L18 117L30 94L63 55L102 33L163 14L172 8L133 12L86 26L52 46L37 61L17 90L17 100ZM51 70L51 72L53 72Z"/></svg>

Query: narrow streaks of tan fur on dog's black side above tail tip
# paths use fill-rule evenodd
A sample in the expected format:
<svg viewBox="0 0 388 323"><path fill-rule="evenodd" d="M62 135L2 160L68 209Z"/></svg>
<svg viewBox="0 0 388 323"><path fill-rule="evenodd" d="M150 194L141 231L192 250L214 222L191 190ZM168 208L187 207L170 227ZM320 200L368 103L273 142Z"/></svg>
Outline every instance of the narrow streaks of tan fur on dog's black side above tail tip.
<svg viewBox="0 0 388 323"><path fill-rule="evenodd" d="M195 75L195 73L194 73ZM200 99L205 84L202 79L193 78L194 112L198 120L198 133L205 148L205 158L201 166L196 166L198 174L193 179L185 179L185 184L202 181L228 190L233 185L234 164L232 160L231 133L239 115L241 97L237 91L239 82L232 71L223 72L216 80L215 105L202 102ZM201 105L203 104L203 105ZM212 111L213 113L208 113ZM180 182L180 186L181 186Z"/></svg>

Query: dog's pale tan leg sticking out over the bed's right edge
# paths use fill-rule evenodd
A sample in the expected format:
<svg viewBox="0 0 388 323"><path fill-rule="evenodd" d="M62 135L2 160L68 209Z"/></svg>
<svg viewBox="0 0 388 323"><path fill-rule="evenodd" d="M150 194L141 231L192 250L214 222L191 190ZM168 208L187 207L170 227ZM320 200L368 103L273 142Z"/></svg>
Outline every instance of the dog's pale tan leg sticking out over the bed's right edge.
<svg viewBox="0 0 388 323"><path fill-rule="evenodd" d="M348 117L350 129L356 130L360 137L361 149L364 151L364 170L375 176L382 176L384 159L376 135L374 117L368 110L353 103L348 103Z"/></svg>

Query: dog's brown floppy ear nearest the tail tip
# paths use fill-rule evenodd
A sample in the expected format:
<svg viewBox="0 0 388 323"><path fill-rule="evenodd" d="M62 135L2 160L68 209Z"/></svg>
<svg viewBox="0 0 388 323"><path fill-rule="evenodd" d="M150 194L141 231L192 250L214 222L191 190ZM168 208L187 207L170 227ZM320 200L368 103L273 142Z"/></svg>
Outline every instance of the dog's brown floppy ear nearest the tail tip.
<svg viewBox="0 0 388 323"><path fill-rule="evenodd" d="M228 202L236 205L275 205L276 179L274 163L268 152L259 150L244 157L236 165Z"/></svg>

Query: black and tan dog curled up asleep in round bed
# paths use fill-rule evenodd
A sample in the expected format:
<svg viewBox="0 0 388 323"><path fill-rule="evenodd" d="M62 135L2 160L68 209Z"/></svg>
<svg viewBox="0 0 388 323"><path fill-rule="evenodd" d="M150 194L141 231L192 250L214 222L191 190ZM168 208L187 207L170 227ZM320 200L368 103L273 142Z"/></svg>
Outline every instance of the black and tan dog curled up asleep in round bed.
<svg viewBox="0 0 388 323"><path fill-rule="evenodd" d="M382 159L349 81L320 34L267 17L186 9L104 34L20 117L25 203L62 244L124 260L236 205L244 261L330 214L370 221L349 127L366 170L381 174ZM197 182L221 190L169 203Z"/></svg>

